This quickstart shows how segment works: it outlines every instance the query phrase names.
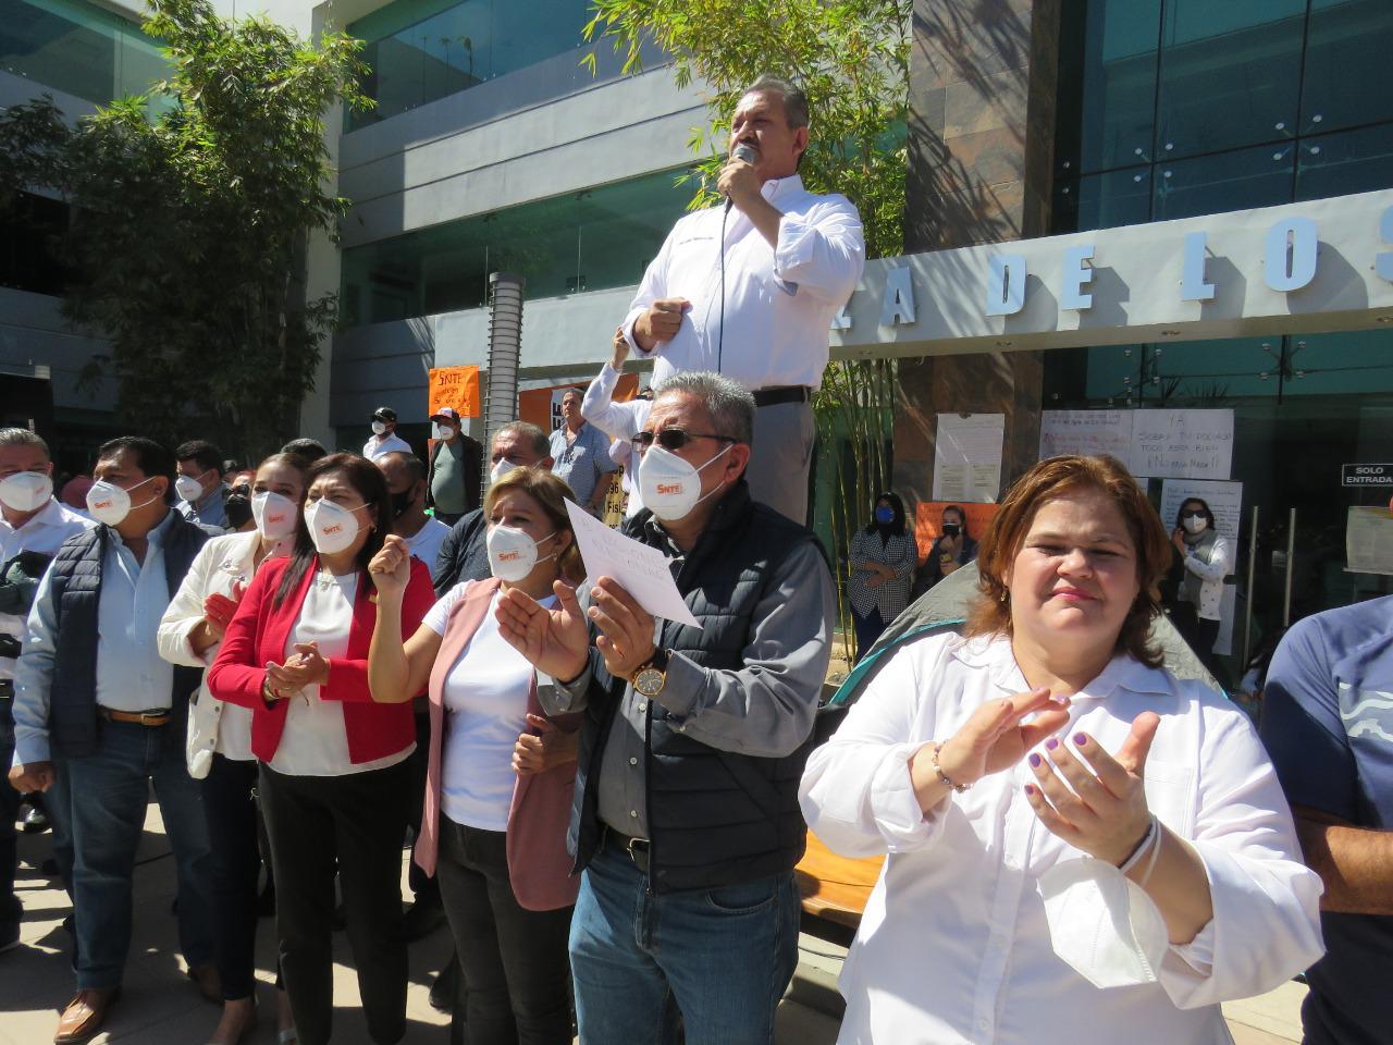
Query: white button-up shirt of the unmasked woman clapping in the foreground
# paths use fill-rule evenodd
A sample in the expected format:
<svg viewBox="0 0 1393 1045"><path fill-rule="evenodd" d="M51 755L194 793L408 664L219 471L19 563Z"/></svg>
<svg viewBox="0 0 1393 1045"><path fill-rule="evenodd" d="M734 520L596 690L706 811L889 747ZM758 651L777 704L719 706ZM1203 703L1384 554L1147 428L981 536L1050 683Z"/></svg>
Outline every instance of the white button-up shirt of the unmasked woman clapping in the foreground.
<svg viewBox="0 0 1393 1045"><path fill-rule="evenodd" d="M910 782L908 759L926 741L951 737L985 701L1029 688L1009 640L926 637L893 655L808 759L800 797L818 837L847 856L889 853L841 974L839 1041L1229 1042L1220 1002L1270 991L1322 953L1321 879L1300 862L1252 726L1204 684L1127 656L1074 695L1059 736L1082 729L1109 752L1137 715L1160 715L1148 805L1194 846L1213 900L1195 939L1165 952L1158 982L1099 989L1055 953L1039 892L1050 868L1092 857L1035 816L1025 759L928 815ZM1128 910L1099 910L1087 929L1127 924Z"/></svg>

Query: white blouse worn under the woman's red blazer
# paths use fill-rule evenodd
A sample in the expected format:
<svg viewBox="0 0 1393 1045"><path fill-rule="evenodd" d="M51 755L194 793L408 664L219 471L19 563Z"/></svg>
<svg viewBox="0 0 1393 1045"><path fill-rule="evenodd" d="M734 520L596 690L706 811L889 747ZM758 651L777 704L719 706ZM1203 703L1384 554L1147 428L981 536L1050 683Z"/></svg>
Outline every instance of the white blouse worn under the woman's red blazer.
<svg viewBox="0 0 1393 1045"><path fill-rule="evenodd" d="M343 656L348 652L348 633L352 628L352 601L358 594L358 571L336 577L319 570L309 582L305 602L299 607L295 627L286 640L286 656L297 644L318 642L319 655ZM270 759L270 768L288 776L347 776L369 769L384 769L407 758L415 744L407 744L383 758L354 762L348 757L348 732L344 727L344 706L340 701L319 699L319 686L306 686L290 697L286 729L280 745Z"/></svg>

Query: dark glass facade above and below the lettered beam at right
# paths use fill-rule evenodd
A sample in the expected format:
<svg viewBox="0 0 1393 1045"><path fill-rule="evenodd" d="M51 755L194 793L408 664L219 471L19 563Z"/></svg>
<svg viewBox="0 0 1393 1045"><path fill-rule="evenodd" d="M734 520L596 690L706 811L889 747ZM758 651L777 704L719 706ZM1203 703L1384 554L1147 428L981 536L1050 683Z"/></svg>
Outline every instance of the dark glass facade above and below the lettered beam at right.
<svg viewBox="0 0 1393 1045"><path fill-rule="evenodd" d="M1064 17L1056 231L1393 185L1393 3L1066 0ZM1243 528L1230 681L1250 612L1256 648L1289 614L1393 591L1393 577L1346 568L1350 509L1386 504L1387 490L1340 486L1341 464L1393 460L1393 330L1043 361L1045 410L1233 410ZM1151 486L1159 502L1160 481Z"/></svg>

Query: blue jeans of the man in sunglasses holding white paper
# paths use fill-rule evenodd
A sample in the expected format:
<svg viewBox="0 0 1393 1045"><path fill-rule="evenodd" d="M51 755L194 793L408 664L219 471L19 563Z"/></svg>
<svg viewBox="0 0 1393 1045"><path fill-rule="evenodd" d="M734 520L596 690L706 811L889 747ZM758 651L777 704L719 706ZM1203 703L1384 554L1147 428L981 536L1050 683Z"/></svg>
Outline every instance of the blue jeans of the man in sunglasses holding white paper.
<svg viewBox="0 0 1393 1045"><path fill-rule="evenodd" d="M606 844L585 868L571 918L582 1045L770 1045L798 964L793 872L717 889L649 893Z"/></svg>

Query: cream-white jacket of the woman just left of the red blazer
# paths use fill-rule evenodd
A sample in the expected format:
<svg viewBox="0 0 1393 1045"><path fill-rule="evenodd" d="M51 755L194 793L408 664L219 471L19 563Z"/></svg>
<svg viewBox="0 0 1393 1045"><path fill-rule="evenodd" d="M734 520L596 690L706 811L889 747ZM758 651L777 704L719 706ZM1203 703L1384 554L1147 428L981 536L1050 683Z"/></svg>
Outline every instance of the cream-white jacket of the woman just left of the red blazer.
<svg viewBox="0 0 1393 1045"><path fill-rule="evenodd" d="M267 557L287 555L291 542L291 538L280 542ZM189 645L189 634L203 623L203 602L209 595L231 598L235 587L240 585L245 591L252 582L259 545L260 534L254 529L248 534L216 536L198 550L188 573L184 574L184 582L174 592L174 599L160 620L157 635L160 656L171 665L188 667L208 667L213 663L223 644L215 642L201 656ZM224 758L240 762L252 758L252 709L238 704L224 704L213 697L208 688L206 672L189 708L189 772L199 779L208 775L206 755L201 757L201 751L217 751ZM201 768L201 772L195 771L195 766Z"/></svg>

